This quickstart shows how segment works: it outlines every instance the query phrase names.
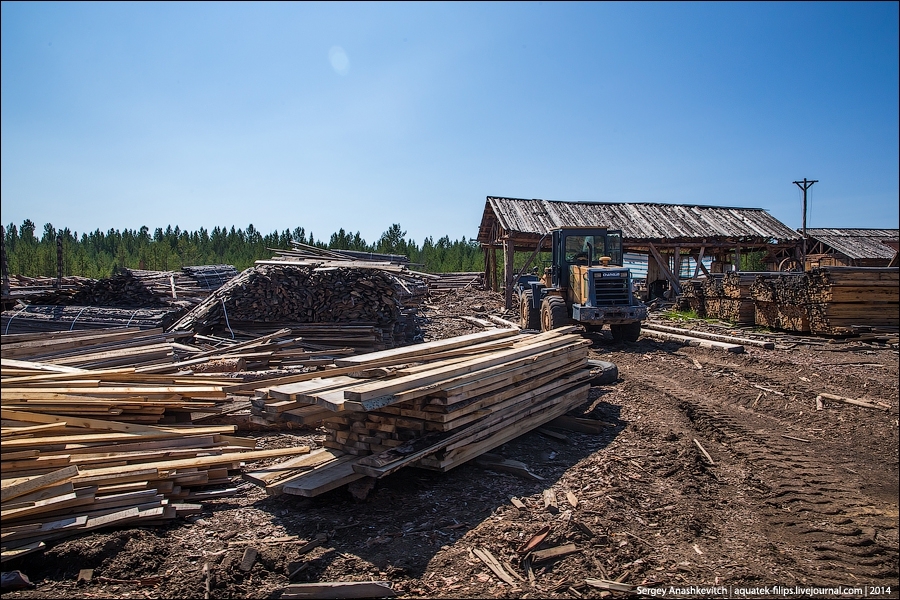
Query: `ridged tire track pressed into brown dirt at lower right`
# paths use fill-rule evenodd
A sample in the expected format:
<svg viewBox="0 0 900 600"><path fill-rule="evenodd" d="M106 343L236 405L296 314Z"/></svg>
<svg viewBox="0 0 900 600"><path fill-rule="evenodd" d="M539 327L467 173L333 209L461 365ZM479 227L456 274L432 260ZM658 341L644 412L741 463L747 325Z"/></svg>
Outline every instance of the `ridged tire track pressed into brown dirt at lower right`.
<svg viewBox="0 0 900 600"><path fill-rule="evenodd" d="M660 374L661 375L661 374ZM762 519L762 533L784 548L792 570L822 583L896 583L897 507L861 491L852 473L836 473L841 448L810 447L783 438L776 419L739 405L717 403L679 381L642 385L671 398L693 426L741 463L745 496Z"/></svg>

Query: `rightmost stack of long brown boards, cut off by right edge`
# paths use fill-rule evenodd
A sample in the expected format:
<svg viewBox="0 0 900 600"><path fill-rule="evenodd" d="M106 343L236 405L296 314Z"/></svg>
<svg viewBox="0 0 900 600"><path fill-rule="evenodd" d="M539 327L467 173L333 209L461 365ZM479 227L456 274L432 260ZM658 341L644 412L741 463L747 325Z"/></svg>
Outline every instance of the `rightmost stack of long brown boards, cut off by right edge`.
<svg viewBox="0 0 900 600"><path fill-rule="evenodd" d="M855 326L900 325L900 269L820 267L809 271L809 327L822 335L847 335Z"/></svg>

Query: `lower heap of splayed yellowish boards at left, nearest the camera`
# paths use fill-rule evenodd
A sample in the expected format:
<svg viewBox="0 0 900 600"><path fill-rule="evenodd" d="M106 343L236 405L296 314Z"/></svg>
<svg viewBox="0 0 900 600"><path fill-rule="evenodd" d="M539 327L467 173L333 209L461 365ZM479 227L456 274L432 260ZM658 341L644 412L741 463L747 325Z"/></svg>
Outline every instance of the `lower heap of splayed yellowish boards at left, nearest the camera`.
<svg viewBox="0 0 900 600"><path fill-rule="evenodd" d="M310 450L254 451L254 440L229 435L233 426L162 428L2 413L3 561L100 527L199 513L196 502L237 493L231 472L244 461Z"/></svg>

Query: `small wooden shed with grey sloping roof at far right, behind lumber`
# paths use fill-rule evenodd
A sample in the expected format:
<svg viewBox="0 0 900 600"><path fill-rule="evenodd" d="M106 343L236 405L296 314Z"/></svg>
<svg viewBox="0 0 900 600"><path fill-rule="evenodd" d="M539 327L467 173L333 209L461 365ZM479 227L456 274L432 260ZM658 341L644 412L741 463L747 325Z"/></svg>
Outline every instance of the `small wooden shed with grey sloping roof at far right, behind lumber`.
<svg viewBox="0 0 900 600"><path fill-rule="evenodd" d="M897 266L900 229L807 228L806 235L807 270L835 266Z"/></svg>

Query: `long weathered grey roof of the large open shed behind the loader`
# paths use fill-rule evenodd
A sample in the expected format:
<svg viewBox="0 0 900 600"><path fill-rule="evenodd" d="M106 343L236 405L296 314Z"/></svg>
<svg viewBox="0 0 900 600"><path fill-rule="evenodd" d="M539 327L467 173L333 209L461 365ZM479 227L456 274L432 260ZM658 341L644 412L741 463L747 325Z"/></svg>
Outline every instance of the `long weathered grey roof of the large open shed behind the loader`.
<svg viewBox="0 0 900 600"><path fill-rule="evenodd" d="M489 242L496 217L506 231L543 235L554 227L607 226L629 241L704 240L793 243L800 235L761 208L730 208L649 202L563 202L488 196L478 234Z"/></svg>

